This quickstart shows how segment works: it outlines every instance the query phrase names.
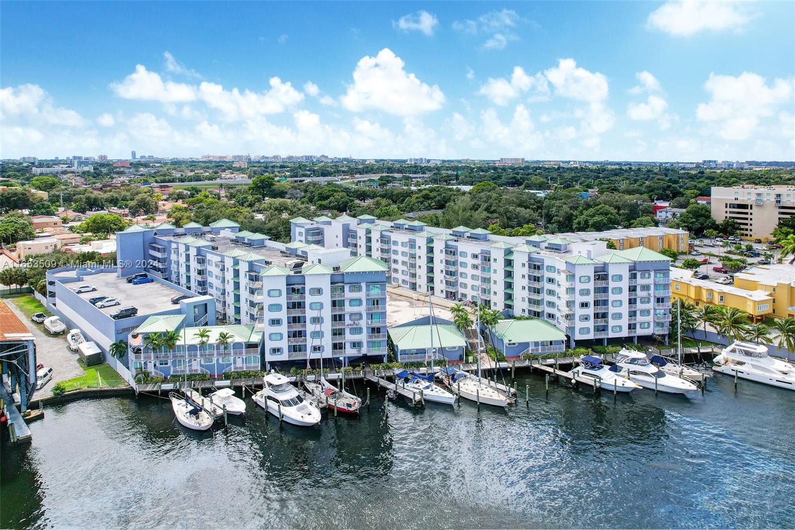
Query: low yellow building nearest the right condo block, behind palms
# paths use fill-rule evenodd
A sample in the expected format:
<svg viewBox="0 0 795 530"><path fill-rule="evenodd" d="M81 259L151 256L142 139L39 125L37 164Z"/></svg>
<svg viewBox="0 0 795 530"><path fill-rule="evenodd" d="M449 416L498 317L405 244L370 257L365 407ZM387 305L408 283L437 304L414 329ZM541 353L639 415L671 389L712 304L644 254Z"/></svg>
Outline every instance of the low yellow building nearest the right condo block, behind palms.
<svg viewBox="0 0 795 530"><path fill-rule="evenodd" d="M721 285L694 275L694 271L671 267L672 302L681 299L696 306L735 307L750 314L754 322L773 314L774 295L766 286L738 286L736 276L735 285Z"/></svg>

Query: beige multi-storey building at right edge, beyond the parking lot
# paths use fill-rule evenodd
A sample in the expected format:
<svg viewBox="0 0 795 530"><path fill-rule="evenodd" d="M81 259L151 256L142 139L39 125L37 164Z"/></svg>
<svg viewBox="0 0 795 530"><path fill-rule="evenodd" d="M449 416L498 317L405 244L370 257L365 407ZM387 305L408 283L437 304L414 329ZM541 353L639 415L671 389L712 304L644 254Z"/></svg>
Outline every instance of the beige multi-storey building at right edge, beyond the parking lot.
<svg viewBox="0 0 795 530"><path fill-rule="evenodd" d="M795 186L752 185L712 187L712 218L734 219L743 237L770 237L778 220L795 214Z"/></svg>

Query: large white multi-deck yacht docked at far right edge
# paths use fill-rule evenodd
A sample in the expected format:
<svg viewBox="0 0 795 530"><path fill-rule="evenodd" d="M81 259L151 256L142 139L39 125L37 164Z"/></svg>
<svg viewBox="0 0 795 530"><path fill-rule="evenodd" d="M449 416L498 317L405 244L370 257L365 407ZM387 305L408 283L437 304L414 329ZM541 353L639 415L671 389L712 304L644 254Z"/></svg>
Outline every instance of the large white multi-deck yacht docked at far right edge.
<svg viewBox="0 0 795 530"><path fill-rule="evenodd" d="M765 345L735 341L712 361L715 372L795 390L795 364L770 357Z"/></svg>

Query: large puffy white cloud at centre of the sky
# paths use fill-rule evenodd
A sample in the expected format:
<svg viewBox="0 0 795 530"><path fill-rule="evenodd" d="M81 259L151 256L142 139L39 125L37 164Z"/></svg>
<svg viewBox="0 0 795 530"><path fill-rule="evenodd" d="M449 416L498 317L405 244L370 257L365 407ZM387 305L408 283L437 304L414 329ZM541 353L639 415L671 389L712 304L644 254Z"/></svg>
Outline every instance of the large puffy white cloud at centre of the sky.
<svg viewBox="0 0 795 530"><path fill-rule="evenodd" d="M417 115L436 111L444 104L444 93L407 73L405 63L385 48L375 57L365 56L353 72L353 84L340 99L349 111L384 111L394 115Z"/></svg>

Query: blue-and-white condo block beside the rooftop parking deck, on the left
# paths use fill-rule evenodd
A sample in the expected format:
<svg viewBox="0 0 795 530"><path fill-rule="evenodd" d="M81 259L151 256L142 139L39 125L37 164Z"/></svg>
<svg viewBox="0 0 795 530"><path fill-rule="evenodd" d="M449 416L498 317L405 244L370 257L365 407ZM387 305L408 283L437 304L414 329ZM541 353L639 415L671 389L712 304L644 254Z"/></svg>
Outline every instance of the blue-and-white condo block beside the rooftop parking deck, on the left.
<svg viewBox="0 0 795 530"><path fill-rule="evenodd" d="M266 366L364 356L386 360L386 272L347 248L290 245L219 220L117 233L122 276L146 271L215 298L217 322L262 333Z"/></svg>

